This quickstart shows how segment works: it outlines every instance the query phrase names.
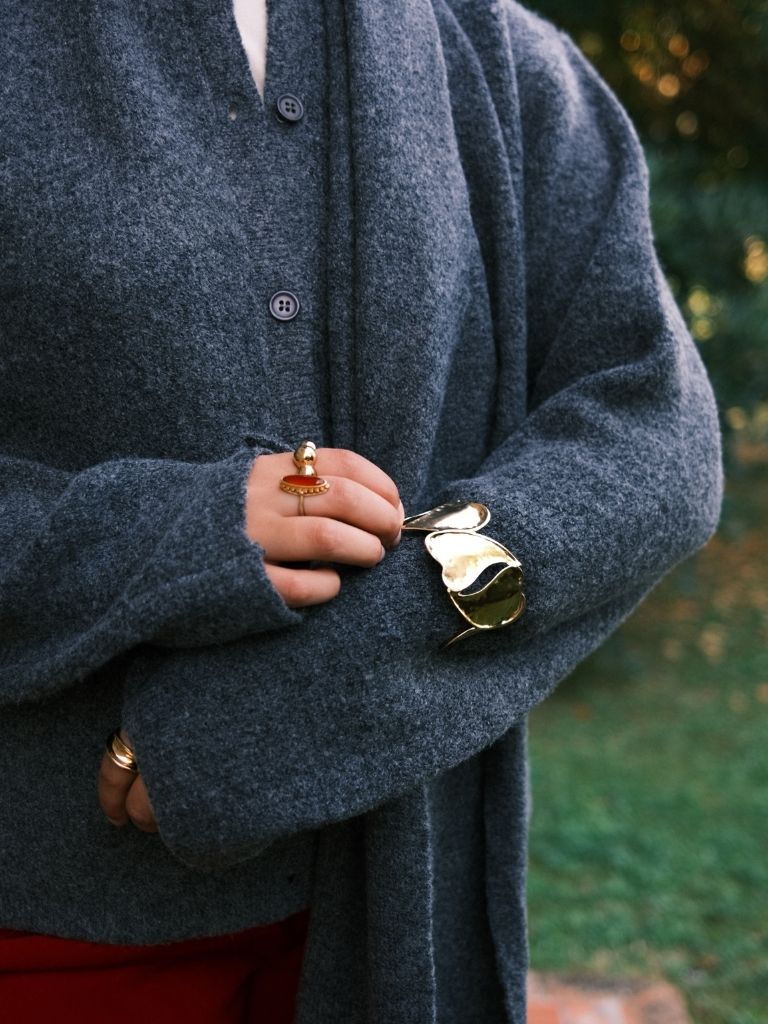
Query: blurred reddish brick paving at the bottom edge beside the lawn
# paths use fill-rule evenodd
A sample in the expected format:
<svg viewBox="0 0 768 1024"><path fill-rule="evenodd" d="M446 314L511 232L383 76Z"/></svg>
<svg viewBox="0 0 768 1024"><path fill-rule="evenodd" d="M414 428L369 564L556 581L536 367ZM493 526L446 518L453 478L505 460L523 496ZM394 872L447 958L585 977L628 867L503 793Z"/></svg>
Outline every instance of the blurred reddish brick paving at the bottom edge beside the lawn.
<svg viewBox="0 0 768 1024"><path fill-rule="evenodd" d="M691 1024L685 1001L667 982L563 978L531 972L528 1024Z"/></svg>

